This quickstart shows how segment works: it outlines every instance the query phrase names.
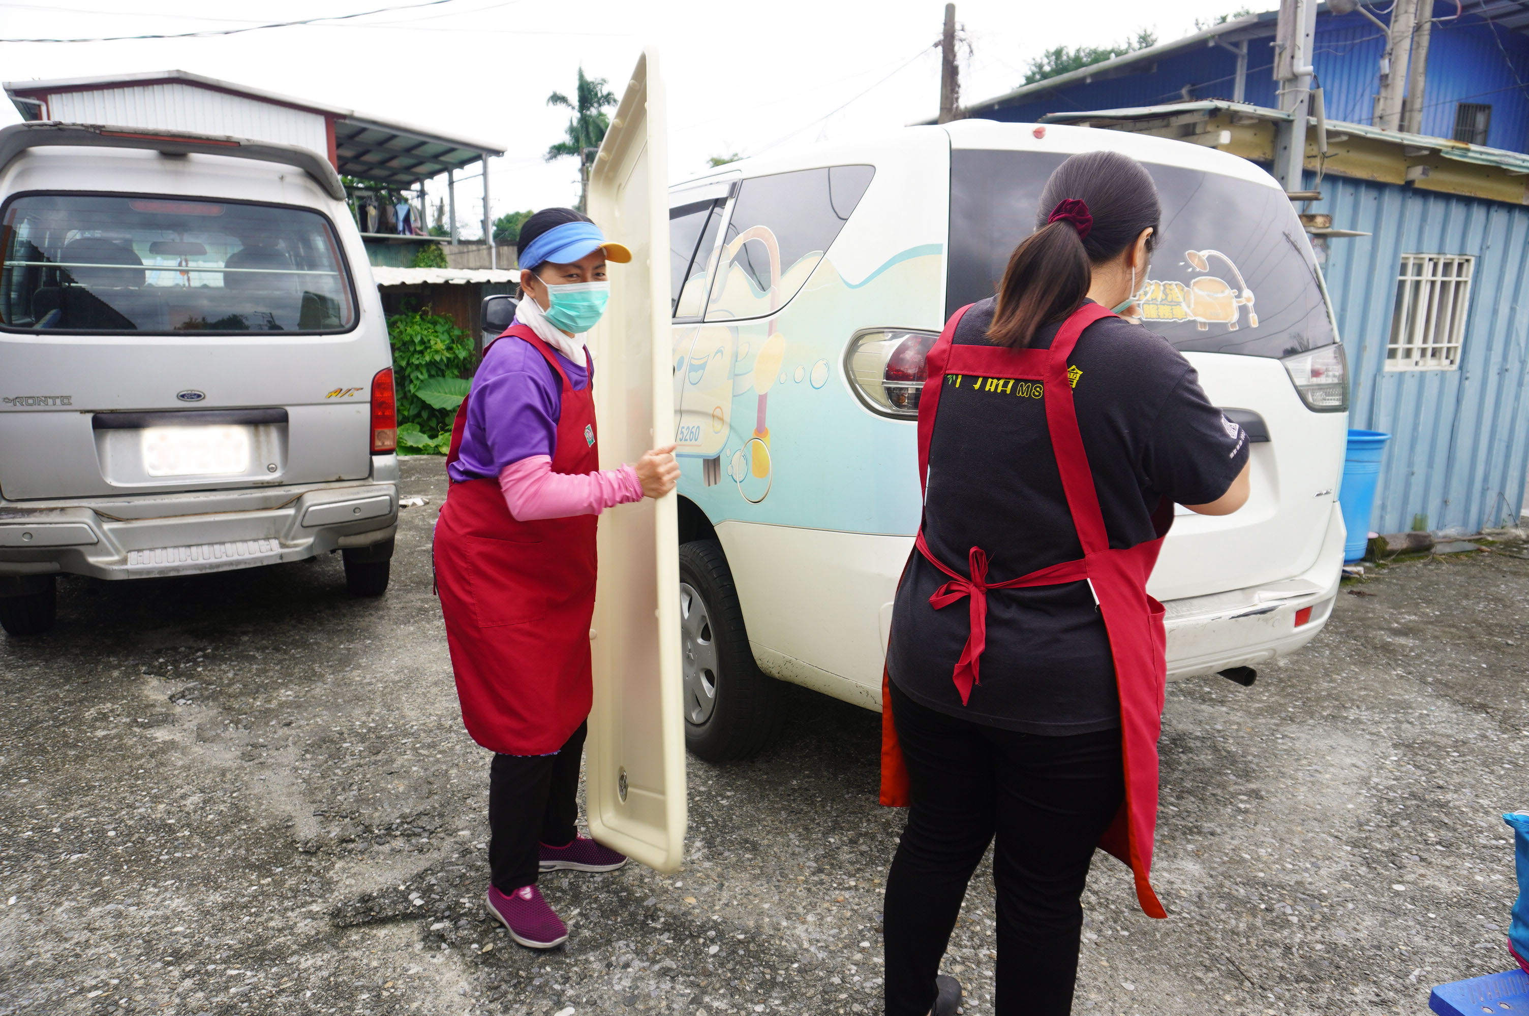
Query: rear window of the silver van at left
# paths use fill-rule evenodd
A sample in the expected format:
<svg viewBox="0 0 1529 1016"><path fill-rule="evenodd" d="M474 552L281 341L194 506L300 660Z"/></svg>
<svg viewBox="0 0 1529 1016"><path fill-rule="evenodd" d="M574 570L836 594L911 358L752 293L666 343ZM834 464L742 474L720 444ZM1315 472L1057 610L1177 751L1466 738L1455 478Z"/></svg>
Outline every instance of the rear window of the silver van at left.
<svg viewBox="0 0 1529 1016"><path fill-rule="evenodd" d="M24 332L344 332L329 220L182 197L26 194L0 218L0 325Z"/></svg>

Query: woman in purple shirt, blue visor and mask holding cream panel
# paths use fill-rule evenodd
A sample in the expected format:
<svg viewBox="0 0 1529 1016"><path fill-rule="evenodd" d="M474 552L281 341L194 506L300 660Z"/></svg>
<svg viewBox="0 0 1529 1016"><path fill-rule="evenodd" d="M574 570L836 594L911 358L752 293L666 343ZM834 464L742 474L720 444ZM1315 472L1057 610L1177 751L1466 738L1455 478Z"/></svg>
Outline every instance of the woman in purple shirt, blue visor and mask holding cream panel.
<svg viewBox="0 0 1529 1016"><path fill-rule="evenodd" d="M631 254L569 208L526 220L518 248L523 298L457 413L434 550L462 718L494 752L488 909L521 946L550 949L567 926L537 875L627 862L575 828L595 516L664 497L679 466L670 446L598 468L584 333L605 307L605 261Z"/></svg>

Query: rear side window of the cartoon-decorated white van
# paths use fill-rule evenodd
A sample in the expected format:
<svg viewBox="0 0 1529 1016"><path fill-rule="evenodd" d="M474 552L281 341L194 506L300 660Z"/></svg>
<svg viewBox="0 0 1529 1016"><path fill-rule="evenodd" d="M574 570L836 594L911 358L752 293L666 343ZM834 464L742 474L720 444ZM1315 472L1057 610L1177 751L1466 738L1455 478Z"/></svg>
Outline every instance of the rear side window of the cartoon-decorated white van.
<svg viewBox="0 0 1529 1016"><path fill-rule="evenodd" d="M807 281L859 205L875 167L830 167L743 180L723 235L706 321L761 318Z"/></svg>

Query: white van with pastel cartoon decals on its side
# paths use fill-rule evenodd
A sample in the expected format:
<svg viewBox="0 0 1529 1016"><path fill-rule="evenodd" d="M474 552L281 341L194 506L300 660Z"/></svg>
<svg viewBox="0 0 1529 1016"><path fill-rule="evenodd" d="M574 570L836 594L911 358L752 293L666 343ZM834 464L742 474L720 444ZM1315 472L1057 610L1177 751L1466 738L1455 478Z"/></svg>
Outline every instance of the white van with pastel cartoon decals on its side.
<svg viewBox="0 0 1529 1016"><path fill-rule="evenodd" d="M685 712L702 758L771 739L764 675L881 707L919 524L924 356L992 295L1050 171L1096 148L1144 162L1162 197L1142 324L1254 442L1246 507L1180 509L1153 574L1170 677L1246 683L1321 631L1342 567L1346 362L1268 173L1177 141L991 121L748 159L670 191Z"/></svg>

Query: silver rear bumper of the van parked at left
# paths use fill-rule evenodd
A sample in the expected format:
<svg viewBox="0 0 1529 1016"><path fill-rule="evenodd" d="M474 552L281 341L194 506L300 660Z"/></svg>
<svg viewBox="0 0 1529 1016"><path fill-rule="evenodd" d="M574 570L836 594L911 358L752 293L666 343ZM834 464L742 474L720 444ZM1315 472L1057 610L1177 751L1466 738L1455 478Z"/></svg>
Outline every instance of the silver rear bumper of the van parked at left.
<svg viewBox="0 0 1529 1016"><path fill-rule="evenodd" d="M147 579L301 561L398 529L398 460L367 480L145 498L0 501L0 576Z"/></svg>

